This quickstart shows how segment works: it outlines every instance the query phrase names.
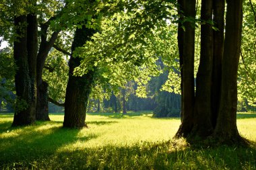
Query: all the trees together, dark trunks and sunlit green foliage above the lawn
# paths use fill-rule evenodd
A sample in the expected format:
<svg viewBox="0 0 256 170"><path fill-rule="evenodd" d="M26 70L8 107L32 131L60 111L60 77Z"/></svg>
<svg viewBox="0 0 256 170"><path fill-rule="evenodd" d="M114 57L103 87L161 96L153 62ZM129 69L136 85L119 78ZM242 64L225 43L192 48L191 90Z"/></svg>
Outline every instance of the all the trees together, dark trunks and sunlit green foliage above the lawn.
<svg viewBox="0 0 256 170"><path fill-rule="evenodd" d="M125 114L148 97L156 117L181 113L177 138L243 142L236 111L256 103L255 6L2 0L1 102L13 105L12 126L49 121L50 101L65 106L64 127L82 128L92 105Z"/></svg>

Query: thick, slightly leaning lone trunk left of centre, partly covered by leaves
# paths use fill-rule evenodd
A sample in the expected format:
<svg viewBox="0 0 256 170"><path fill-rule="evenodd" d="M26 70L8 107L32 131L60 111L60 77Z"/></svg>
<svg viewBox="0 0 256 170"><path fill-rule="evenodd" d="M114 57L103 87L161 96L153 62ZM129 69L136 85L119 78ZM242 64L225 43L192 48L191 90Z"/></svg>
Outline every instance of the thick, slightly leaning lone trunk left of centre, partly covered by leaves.
<svg viewBox="0 0 256 170"><path fill-rule="evenodd" d="M86 126L86 108L88 98L94 81L94 71L88 71L82 77L73 76L75 67L80 65L82 60L73 57L73 51L79 46L83 46L90 40L94 30L83 26L82 29L75 30L75 37L71 47L71 58L69 60L69 81L67 83L65 96L65 116L63 126L67 128L82 128Z"/></svg>

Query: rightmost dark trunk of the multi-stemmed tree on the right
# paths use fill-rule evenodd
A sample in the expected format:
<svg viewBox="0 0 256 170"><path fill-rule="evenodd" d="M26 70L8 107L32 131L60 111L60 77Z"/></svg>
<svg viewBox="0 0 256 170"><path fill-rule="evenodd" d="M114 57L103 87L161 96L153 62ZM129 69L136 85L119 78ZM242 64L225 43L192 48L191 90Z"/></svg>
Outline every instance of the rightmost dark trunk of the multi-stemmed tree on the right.
<svg viewBox="0 0 256 170"><path fill-rule="evenodd" d="M236 127L237 71L241 50L243 0L227 0L226 33L222 60L220 112L215 134L221 140L241 138Z"/></svg>

